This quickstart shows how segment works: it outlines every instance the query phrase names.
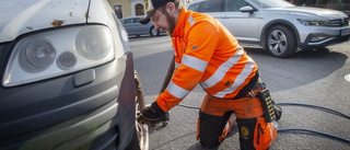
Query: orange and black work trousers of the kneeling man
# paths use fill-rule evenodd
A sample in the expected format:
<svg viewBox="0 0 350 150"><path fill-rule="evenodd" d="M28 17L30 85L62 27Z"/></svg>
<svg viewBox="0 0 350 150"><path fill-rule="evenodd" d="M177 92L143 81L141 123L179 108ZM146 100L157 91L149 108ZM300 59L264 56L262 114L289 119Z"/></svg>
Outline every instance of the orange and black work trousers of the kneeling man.
<svg viewBox="0 0 350 150"><path fill-rule="evenodd" d="M256 95L261 89L254 90ZM198 137L205 147L219 147L225 136L224 127L231 114L237 117L242 150L265 150L275 140L272 123L265 123L259 97L247 95L225 100L206 95L199 112ZM224 136L223 136L224 135Z"/></svg>

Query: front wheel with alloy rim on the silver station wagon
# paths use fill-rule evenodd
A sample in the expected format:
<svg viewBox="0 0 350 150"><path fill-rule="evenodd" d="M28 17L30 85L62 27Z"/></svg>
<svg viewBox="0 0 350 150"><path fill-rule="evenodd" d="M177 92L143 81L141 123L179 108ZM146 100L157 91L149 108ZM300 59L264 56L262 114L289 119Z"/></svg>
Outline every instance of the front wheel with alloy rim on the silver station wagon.
<svg viewBox="0 0 350 150"><path fill-rule="evenodd" d="M267 34L264 49L267 49L273 57L289 57L296 50L296 38L287 26L273 26Z"/></svg>

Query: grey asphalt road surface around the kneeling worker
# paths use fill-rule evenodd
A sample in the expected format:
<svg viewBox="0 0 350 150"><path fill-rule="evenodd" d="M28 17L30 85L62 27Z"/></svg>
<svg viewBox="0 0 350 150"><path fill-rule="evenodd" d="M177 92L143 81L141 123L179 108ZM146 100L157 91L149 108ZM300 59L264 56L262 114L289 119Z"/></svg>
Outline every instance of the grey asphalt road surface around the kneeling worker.
<svg viewBox="0 0 350 150"><path fill-rule="evenodd" d="M144 97L155 101L173 56L168 36L130 37L135 68L143 84ZM262 81L277 103L300 103L327 107L350 115L350 42L323 50L298 51L292 58L273 58L260 48L245 47L256 61ZM182 102L200 106L205 92L197 86ZM349 118L329 111L281 105L279 129L307 129L350 140ZM166 127L150 128L151 150L199 150L196 140L198 109L175 106ZM220 150L240 149L238 134L230 135ZM307 131L280 131L270 150L349 150L350 143Z"/></svg>

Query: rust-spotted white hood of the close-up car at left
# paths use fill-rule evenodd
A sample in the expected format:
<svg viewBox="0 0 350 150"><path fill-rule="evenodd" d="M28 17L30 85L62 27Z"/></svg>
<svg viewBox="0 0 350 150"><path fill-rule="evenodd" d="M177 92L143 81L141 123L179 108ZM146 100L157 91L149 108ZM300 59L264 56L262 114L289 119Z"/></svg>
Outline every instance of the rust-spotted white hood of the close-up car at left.
<svg viewBox="0 0 350 150"><path fill-rule="evenodd" d="M86 22L89 1L1 0L0 43L38 30L83 24Z"/></svg>

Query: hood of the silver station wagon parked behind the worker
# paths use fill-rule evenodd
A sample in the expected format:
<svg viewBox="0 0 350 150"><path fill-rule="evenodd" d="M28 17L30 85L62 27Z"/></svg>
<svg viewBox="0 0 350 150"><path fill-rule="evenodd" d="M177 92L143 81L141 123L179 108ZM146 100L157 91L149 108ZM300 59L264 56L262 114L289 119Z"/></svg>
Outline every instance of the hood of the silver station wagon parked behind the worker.
<svg viewBox="0 0 350 150"><path fill-rule="evenodd" d="M331 9L322 9L322 8L312 8L312 7L289 7L289 8L271 8L267 9L269 11L279 11L292 14L301 14L301 15L317 15L319 18L325 19L345 19L348 15L341 11L331 10Z"/></svg>

